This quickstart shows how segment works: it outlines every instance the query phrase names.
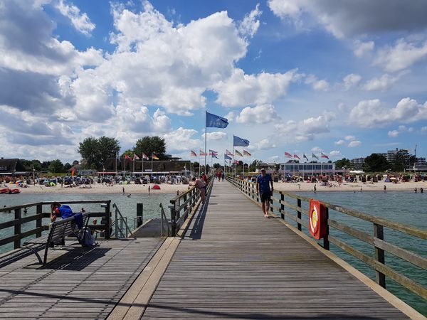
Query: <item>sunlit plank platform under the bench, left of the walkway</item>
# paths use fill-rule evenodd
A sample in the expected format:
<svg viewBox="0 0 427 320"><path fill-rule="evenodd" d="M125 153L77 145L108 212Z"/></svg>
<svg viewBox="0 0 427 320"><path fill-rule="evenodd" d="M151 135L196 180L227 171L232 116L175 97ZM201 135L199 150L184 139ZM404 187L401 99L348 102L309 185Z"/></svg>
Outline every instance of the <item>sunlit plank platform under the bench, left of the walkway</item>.
<svg viewBox="0 0 427 320"><path fill-rule="evenodd" d="M100 241L90 250L51 250L0 268L0 319L105 319L163 240Z"/></svg>

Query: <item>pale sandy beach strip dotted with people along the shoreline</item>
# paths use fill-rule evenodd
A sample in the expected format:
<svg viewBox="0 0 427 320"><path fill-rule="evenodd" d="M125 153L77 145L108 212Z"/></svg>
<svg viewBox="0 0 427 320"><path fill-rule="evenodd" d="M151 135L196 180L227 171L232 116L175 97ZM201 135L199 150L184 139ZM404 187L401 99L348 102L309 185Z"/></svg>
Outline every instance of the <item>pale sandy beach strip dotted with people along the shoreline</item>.
<svg viewBox="0 0 427 320"><path fill-rule="evenodd" d="M215 183L228 183L226 181ZM13 184L7 183L7 188L19 188L21 193L91 193L91 194L120 194L123 193L123 188L125 188L126 194L138 194L138 193L148 193L148 186L151 188L151 193L181 193L188 190L188 184L167 184L162 183L159 185L160 190L154 190L154 183L149 183L147 185L141 184L130 184L130 185L121 185L115 184L113 186L106 186L101 183L95 183L93 185L85 186L75 186L73 188L68 188L66 186L52 186L46 187L41 185L28 186L28 188L19 188ZM274 188L277 191L287 191L287 192L307 192L314 191L314 186L316 186L317 192L337 192L337 191L381 191L384 192L384 186L386 186L386 191L411 191L413 192L415 188L418 189L424 188L427 193L427 183L426 182L402 182L402 183L342 183L338 186L338 183L332 182L332 186L322 186L320 183L283 183L276 182L274 183Z"/></svg>

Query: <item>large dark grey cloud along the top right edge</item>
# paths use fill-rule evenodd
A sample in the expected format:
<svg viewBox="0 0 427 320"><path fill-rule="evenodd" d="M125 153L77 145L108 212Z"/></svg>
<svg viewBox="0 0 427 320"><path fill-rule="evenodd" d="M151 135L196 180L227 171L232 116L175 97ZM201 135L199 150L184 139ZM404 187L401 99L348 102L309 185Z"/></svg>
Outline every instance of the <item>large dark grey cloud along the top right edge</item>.
<svg viewBox="0 0 427 320"><path fill-rule="evenodd" d="M297 25L311 18L337 38L427 27L423 14L427 11L427 2L423 0L411 1L411 5L401 0L269 0L268 6L276 16Z"/></svg>

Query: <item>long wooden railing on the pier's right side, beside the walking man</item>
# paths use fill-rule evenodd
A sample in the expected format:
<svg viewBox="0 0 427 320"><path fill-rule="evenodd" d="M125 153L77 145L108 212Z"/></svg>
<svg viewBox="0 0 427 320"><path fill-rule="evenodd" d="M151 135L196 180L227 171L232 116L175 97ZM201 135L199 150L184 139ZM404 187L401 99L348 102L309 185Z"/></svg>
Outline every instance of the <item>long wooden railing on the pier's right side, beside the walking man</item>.
<svg viewBox="0 0 427 320"><path fill-rule="evenodd" d="M227 177L227 180L233 183L238 190L246 194L255 202L260 202L260 197L256 192L256 183L243 181L238 178ZM292 201L295 201L292 203ZM273 197L270 203L271 213L280 216L283 220L290 220L295 223L297 230L302 232L309 228L308 222L308 202L310 198L299 196L295 193L285 193L281 191L273 191ZM417 253L411 252L408 248L400 245L402 238L408 238L409 242L416 243L418 248L427 247L427 230L413 228L408 225L396 223L384 218L376 218L372 215L367 215L357 210L336 206L332 203L322 203L326 207L327 213L327 235L322 243L319 243L326 250L330 250L330 245L337 246L352 257L364 262L376 274L376 282L381 287L386 288L386 277L392 279L394 282L406 287L414 294L427 300L427 289L423 285L418 284L409 275L404 275L407 267L398 267L393 261L397 258L409 262L409 267L416 266L419 278L426 277L425 270L427 270L427 259ZM338 221L335 214L342 213L349 219L356 218L362 228L354 228L346 225L345 222ZM302 218L302 215L307 217ZM346 220L346 219L344 219ZM356 223L357 224L357 223ZM369 225L371 232L369 232ZM305 228L304 230L302 228ZM394 240L393 242L386 241L387 238ZM332 233L334 235L332 235ZM350 240L349 240L350 239ZM354 243L357 245L355 247ZM367 250L366 245L371 248ZM391 260L386 265L386 253L391 254ZM418 269L417 269L418 268ZM401 271L399 272L399 269ZM417 272L415 272L417 273Z"/></svg>

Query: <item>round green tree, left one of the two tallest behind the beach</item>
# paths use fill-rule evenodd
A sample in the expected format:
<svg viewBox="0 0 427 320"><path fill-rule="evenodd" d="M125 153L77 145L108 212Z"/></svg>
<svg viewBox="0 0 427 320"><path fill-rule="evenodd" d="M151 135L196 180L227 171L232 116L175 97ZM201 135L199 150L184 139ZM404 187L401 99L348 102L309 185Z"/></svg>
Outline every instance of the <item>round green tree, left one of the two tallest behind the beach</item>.
<svg viewBox="0 0 427 320"><path fill-rule="evenodd" d="M80 142L78 152L85 159L88 168L102 169L108 158L115 157L120 151L119 141L115 138L102 136L88 137Z"/></svg>

